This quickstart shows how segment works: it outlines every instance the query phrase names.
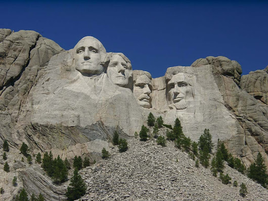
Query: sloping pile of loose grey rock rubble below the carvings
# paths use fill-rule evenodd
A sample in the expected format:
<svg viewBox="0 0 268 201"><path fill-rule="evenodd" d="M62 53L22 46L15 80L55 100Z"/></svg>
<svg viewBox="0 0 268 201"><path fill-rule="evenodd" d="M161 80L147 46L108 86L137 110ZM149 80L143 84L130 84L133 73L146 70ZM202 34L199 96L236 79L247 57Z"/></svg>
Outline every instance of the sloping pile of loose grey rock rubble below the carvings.
<svg viewBox="0 0 268 201"><path fill-rule="evenodd" d="M232 183L222 184L209 168L196 168L173 142L162 147L155 139L131 138L128 146L125 153L80 171L88 186L81 200L268 200L267 189L228 165L224 173ZM248 191L244 198L239 194L242 182Z"/></svg>

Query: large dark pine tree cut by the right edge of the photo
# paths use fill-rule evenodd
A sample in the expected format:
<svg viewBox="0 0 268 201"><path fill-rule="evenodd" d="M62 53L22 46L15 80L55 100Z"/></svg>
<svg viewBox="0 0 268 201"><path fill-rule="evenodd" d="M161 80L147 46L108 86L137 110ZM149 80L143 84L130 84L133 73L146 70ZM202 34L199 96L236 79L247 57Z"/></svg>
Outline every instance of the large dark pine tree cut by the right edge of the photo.
<svg viewBox="0 0 268 201"><path fill-rule="evenodd" d="M268 184L266 166L263 163L263 158L260 153L258 153L256 161L250 165L248 169L248 177L261 184L264 188Z"/></svg>

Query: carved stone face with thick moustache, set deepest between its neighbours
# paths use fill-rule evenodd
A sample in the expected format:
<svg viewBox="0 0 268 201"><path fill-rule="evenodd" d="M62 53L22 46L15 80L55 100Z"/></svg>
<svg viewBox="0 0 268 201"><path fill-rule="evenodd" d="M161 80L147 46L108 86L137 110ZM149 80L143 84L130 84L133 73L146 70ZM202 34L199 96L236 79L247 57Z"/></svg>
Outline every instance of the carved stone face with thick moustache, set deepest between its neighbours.
<svg viewBox="0 0 268 201"><path fill-rule="evenodd" d="M143 108L151 108L151 92L151 79L146 74L138 76L133 86L133 94Z"/></svg>

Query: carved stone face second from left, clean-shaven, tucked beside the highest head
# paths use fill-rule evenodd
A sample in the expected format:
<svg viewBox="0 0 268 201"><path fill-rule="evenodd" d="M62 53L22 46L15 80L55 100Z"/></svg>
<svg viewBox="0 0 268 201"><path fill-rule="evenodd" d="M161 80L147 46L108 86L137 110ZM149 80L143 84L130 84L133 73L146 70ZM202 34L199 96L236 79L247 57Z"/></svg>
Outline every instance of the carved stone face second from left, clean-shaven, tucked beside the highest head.
<svg viewBox="0 0 268 201"><path fill-rule="evenodd" d="M107 75L114 84L127 87L131 71L120 55L113 55L107 68Z"/></svg>

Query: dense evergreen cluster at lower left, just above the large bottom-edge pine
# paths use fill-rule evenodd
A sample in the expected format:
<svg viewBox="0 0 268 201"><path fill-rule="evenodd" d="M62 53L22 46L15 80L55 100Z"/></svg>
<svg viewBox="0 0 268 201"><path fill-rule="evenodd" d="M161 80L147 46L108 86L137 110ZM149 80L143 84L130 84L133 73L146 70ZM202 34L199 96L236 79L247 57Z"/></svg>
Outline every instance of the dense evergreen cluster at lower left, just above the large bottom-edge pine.
<svg viewBox="0 0 268 201"><path fill-rule="evenodd" d="M56 184L63 183L68 180L68 168L60 156L53 159L51 152L44 153L41 166Z"/></svg>

